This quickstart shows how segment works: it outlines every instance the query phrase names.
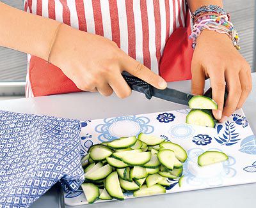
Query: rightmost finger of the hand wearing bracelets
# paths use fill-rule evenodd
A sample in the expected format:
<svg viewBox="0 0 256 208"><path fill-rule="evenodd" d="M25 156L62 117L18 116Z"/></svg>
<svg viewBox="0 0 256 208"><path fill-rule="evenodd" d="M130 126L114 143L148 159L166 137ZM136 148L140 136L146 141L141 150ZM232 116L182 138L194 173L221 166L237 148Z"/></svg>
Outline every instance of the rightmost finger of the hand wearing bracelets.
<svg viewBox="0 0 256 208"><path fill-rule="evenodd" d="M241 97L237 104L237 109L241 108L252 91L252 76L249 70L243 70L239 73L240 84L241 84Z"/></svg>

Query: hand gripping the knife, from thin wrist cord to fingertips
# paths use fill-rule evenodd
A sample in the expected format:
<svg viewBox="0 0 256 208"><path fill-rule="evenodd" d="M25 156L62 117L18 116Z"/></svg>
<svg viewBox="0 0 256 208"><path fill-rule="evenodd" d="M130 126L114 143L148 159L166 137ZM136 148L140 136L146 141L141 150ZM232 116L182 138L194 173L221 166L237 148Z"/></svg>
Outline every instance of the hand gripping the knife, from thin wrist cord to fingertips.
<svg viewBox="0 0 256 208"><path fill-rule="evenodd" d="M127 71L158 89L165 89L163 78L132 59L116 43L102 36L84 33L65 24L60 26L49 61L58 66L83 91L99 91L119 98L131 94L122 77Z"/></svg>

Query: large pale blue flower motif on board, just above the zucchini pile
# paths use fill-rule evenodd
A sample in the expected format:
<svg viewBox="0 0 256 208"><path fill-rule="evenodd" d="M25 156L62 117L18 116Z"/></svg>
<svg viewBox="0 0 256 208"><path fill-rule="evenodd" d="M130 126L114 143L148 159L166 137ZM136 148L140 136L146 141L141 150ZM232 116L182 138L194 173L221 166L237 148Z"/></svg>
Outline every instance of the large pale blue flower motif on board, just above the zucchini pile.
<svg viewBox="0 0 256 208"><path fill-rule="evenodd" d="M104 119L103 121L103 124L95 127L95 131L100 133L98 137L100 142L109 142L120 137L131 137L141 132L149 134L154 131L154 126L149 125L150 119L145 116L120 116ZM127 126L127 128L124 130L121 126ZM120 132L120 129L122 129L122 132Z"/></svg>

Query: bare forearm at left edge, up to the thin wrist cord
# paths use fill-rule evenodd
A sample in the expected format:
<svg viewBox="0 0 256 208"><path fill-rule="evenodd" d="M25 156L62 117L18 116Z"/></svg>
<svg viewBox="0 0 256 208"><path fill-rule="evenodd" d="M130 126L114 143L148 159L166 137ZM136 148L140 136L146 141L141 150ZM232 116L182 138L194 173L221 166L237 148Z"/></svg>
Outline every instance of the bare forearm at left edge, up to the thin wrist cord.
<svg viewBox="0 0 256 208"><path fill-rule="evenodd" d="M0 45L47 60L60 22L0 2Z"/></svg>

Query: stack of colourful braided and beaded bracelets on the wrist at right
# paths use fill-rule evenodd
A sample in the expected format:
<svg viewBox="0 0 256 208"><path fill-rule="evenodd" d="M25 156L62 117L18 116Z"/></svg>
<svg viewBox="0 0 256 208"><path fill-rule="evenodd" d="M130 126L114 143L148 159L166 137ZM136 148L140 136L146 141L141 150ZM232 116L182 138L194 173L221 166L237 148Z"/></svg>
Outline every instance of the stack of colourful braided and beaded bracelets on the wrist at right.
<svg viewBox="0 0 256 208"><path fill-rule="evenodd" d="M193 13L192 19L193 30L189 38L193 40L193 48L196 46L196 38L204 29L208 29L217 33L227 34L232 40L234 47L237 50L240 49L238 45L239 36L233 24L230 22L230 15L220 6L201 6Z"/></svg>

